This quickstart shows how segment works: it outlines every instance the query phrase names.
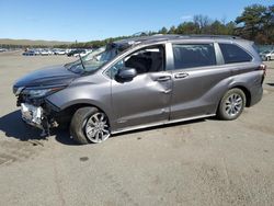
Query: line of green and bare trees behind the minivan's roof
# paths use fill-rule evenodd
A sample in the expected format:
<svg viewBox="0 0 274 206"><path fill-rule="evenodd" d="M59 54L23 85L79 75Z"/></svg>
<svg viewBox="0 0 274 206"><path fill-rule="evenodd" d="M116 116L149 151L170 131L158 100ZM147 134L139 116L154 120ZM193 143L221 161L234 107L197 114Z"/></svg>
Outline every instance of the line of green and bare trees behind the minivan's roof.
<svg viewBox="0 0 274 206"><path fill-rule="evenodd" d="M235 21L226 22L226 20L210 20L206 15L194 15L192 21L185 21L178 26L170 28L162 27L157 32L140 33L138 36L155 34L209 34L209 35L235 35L246 39L254 41L260 45L274 44L274 4L265 7L262 4L252 4L246 7L241 15ZM136 35L135 35L136 36ZM117 41L125 37L106 38L104 41L92 41L81 43L73 46L99 47L106 43Z"/></svg>

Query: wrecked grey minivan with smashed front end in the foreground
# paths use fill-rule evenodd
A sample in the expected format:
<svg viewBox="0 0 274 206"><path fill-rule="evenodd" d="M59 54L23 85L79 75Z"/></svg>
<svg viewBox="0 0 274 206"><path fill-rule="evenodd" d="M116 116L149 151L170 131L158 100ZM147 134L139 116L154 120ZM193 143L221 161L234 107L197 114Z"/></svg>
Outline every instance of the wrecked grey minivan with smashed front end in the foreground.
<svg viewBox="0 0 274 206"><path fill-rule="evenodd" d="M157 35L110 43L13 85L22 118L70 129L80 144L112 134L204 118L238 118L262 99L265 66L233 36Z"/></svg>

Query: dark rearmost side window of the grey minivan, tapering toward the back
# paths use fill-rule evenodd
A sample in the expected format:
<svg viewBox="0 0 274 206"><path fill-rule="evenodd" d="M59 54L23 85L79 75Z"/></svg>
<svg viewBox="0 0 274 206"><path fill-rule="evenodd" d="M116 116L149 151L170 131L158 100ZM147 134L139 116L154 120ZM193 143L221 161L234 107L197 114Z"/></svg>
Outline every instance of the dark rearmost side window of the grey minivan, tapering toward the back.
<svg viewBox="0 0 274 206"><path fill-rule="evenodd" d="M252 57L242 48L233 44L219 44L225 64L248 62Z"/></svg>

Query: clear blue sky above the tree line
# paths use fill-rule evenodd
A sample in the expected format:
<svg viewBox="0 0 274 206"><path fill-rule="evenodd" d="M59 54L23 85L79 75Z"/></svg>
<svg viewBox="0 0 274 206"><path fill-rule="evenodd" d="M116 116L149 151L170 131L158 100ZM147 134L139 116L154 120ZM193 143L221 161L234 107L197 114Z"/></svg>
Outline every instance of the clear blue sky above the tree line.
<svg viewBox="0 0 274 206"><path fill-rule="evenodd" d="M0 38L88 42L158 31L195 14L233 21L273 0L0 0Z"/></svg>

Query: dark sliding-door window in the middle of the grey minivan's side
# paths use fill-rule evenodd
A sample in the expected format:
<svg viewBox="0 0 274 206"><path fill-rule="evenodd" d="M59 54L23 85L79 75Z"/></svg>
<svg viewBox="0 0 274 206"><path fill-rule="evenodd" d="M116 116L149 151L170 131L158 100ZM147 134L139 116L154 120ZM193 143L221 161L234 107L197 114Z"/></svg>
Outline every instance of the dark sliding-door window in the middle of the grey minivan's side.
<svg viewBox="0 0 274 206"><path fill-rule="evenodd" d="M176 44L173 54L175 69L216 65L213 44Z"/></svg>

